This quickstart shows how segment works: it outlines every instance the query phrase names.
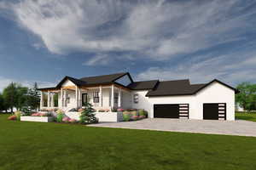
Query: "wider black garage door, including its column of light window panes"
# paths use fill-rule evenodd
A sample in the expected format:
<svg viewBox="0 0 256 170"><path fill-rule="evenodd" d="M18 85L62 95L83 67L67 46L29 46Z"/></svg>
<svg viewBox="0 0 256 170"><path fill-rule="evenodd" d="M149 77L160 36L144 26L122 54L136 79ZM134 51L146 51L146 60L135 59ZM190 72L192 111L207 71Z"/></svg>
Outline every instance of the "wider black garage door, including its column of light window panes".
<svg viewBox="0 0 256 170"><path fill-rule="evenodd" d="M189 104L154 105L156 118L189 118Z"/></svg>

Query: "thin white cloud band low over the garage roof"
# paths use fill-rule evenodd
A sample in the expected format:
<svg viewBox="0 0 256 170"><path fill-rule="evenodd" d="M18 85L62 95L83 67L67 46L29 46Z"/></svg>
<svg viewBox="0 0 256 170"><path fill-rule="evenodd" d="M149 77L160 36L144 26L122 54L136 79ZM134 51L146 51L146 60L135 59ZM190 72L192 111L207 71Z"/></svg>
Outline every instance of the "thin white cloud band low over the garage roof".
<svg viewBox="0 0 256 170"><path fill-rule="evenodd" d="M216 55L203 59L197 56L176 66L150 67L137 75L138 80L175 80L189 78L193 83L220 79L236 85L239 82L256 82L256 51L250 54L238 52Z"/></svg>

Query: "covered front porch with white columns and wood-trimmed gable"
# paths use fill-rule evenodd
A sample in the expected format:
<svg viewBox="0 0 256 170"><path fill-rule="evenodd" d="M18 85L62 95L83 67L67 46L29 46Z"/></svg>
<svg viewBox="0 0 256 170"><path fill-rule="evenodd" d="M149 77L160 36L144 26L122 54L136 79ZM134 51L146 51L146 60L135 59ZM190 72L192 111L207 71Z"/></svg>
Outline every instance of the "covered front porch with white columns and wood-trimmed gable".
<svg viewBox="0 0 256 170"><path fill-rule="evenodd" d="M73 82L64 83L61 88L41 89L41 110L61 109L65 112L78 110L87 102L93 105L96 111L112 110L124 107L125 96L130 96L130 90L117 84L100 86L78 86Z"/></svg>

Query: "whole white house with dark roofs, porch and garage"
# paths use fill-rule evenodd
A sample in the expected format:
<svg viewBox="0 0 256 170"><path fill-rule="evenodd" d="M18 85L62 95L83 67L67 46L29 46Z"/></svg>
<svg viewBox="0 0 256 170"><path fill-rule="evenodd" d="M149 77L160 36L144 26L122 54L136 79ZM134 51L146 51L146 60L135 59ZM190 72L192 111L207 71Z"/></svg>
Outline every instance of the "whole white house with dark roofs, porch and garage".
<svg viewBox="0 0 256 170"><path fill-rule="evenodd" d="M96 111L134 108L148 111L151 118L230 121L235 120L238 93L236 88L216 79L204 84L190 84L188 79L134 82L129 72L80 79L64 77L55 87L39 90L41 109L68 112L90 102Z"/></svg>

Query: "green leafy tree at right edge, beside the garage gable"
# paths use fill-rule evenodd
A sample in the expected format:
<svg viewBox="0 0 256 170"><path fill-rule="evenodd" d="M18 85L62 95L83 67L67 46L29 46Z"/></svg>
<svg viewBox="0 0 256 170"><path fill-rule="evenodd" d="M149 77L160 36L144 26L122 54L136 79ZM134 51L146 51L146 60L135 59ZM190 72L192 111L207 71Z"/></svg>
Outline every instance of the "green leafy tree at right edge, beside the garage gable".
<svg viewBox="0 0 256 170"><path fill-rule="evenodd" d="M236 88L240 91L236 94L236 103L247 111L256 110L256 84L242 82Z"/></svg>

